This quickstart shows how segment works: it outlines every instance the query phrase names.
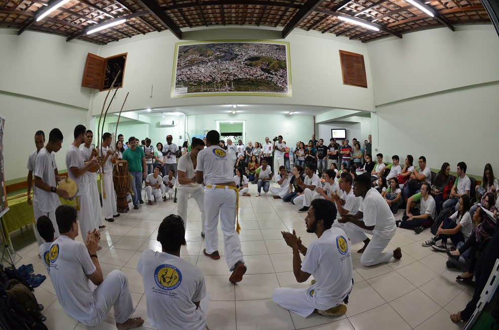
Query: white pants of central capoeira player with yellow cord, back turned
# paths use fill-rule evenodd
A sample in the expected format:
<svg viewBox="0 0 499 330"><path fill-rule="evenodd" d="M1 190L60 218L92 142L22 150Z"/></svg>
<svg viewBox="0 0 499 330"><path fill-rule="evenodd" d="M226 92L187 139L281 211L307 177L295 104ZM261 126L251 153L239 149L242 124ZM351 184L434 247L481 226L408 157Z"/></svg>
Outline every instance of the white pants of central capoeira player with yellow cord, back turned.
<svg viewBox="0 0 499 330"><path fill-rule="evenodd" d="M204 196L204 224L206 253L212 254L218 250L218 219L224 233L225 260L232 271L236 262L243 260L241 241L236 231L236 192L229 186L216 188L216 185L206 186Z"/></svg>

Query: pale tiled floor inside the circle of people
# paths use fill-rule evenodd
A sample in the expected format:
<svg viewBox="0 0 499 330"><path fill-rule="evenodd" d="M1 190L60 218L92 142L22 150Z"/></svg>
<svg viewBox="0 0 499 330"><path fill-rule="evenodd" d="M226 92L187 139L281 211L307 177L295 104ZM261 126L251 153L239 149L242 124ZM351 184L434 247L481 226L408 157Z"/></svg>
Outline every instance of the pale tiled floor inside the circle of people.
<svg viewBox="0 0 499 330"><path fill-rule="evenodd" d="M277 287L303 288L293 275L292 251L282 239L281 230L296 229L305 246L315 238L306 232L304 217L298 206L272 199L272 195L255 197L256 185L250 185L251 197L239 203L240 239L248 271L237 285L229 283L230 272L225 263L223 242L220 240L220 260L203 256L200 237L200 212L193 199L189 200L186 230L187 246L181 256L201 267L211 295L207 319L214 329L460 329L452 323L450 313L464 308L470 300L471 288L455 281L458 271L445 267L445 253L421 246L430 237L429 229L419 235L412 230L397 229L387 250L402 248L402 259L366 268L360 265L360 244L351 246L355 285L350 295L346 315L340 318L312 315L303 318L279 307L272 299ZM156 242L160 220L177 213L173 200L153 206L143 204L139 210L122 213L114 223L101 229L99 261L104 272L120 269L130 279L130 290L137 309L135 316L146 321L142 329L150 328L142 278L135 270L145 249L160 251ZM399 211L396 218L401 217ZM219 231L220 238L222 232ZM31 230L11 233L14 248L22 257L17 266L32 263L35 273L47 275L38 258L38 248ZM81 240L81 238L79 237ZM46 324L53 330L85 329L71 319L57 302L48 278L35 289L38 301L45 305ZM90 327L89 327L90 328ZM115 329L113 311L106 322L96 329Z"/></svg>

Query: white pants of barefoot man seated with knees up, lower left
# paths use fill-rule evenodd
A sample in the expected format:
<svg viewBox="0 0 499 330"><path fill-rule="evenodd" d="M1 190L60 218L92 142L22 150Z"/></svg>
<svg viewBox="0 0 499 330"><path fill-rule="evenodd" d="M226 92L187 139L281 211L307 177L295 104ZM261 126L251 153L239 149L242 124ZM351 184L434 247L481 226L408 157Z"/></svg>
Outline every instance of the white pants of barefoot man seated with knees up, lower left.
<svg viewBox="0 0 499 330"><path fill-rule="evenodd" d="M111 307L114 307L116 323L126 322L135 312L128 278L119 270L111 271L94 290L94 302L90 308L94 313L89 315L89 319L78 321L88 326L102 324Z"/></svg>

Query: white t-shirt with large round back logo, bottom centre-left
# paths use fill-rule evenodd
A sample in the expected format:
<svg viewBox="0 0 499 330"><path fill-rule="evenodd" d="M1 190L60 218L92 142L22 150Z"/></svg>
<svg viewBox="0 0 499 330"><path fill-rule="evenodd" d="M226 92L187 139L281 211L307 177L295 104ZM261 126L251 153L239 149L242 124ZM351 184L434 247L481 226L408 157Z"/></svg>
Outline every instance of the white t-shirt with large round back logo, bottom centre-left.
<svg viewBox="0 0 499 330"><path fill-rule="evenodd" d="M152 326L186 330L206 327L206 315L194 304L207 295L201 268L165 252L145 250L137 271L144 283Z"/></svg>

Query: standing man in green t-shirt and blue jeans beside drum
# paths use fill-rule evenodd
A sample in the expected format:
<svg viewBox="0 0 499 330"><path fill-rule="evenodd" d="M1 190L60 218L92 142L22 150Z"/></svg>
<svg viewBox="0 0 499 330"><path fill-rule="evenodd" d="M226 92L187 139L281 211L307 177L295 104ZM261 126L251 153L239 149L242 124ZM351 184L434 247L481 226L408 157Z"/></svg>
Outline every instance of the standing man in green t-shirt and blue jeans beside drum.
<svg viewBox="0 0 499 330"><path fill-rule="evenodd" d="M130 148L123 152L123 160L128 161L128 171L134 178L132 181L133 203L134 209L138 210L139 202L144 203L142 201L142 178L147 176L146 155L142 148L137 148L135 136L131 136L128 141Z"/></svg>

